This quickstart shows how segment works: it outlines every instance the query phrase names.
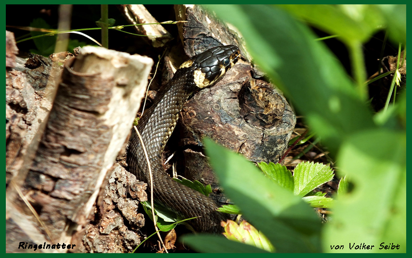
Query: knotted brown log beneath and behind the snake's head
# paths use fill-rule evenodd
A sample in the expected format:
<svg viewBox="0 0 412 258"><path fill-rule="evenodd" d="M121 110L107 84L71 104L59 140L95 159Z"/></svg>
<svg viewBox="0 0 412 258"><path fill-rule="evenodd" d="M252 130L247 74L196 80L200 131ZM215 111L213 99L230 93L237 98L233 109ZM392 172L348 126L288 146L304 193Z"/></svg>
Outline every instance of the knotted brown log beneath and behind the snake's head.
<svg viewBox="0 0 412 258"><path fill-rule="evenodd" d="M236 28L228 28L198 5L176 5L175 11L177 19L187 21L179 25L179 32L189 57L212 46L232 44L239 46L246 59L213 87L194 94L181 112L178 127L176 145L183 152L175 154L178 171L183 170L190 180L211 184L218 193L212 197L226 204L201 148L202 138L211 137L253 162L276 163L287 148L296 117L283 93L247 61L250 55Z"/></svg>

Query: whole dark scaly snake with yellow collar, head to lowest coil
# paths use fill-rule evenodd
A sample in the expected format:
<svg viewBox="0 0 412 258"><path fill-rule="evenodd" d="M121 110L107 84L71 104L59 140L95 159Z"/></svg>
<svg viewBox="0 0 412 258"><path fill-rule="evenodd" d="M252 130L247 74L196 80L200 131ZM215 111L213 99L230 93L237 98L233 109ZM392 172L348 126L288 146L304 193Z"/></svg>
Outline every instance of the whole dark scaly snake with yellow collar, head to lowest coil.
<svg viewBox="0 0 412 258"><path fill-rule="evenodd" d="M229 45L210 48L185 61L151 108L144 112L137 126L153 174L154 200L182 218L198 217L188 221L198 232L222 232L220 222L226 217L216 211L218 206L209 197L175 182L167 175L162 166L162 152L176 126L184 102L193 92L212 85L239 58L238 47ZM130 172L150 185L146 157L134 130L127 147L127 164Z"/></svg>

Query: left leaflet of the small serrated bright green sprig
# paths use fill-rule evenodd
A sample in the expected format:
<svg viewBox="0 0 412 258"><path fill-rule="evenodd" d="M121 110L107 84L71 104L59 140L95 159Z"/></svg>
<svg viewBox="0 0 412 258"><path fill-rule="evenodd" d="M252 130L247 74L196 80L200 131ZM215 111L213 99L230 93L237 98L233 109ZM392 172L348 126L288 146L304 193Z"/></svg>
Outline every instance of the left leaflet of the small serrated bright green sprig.
<svg viewBox="0 0 412 258"><path fill-rule="evenodd" d="M282 166L281 164L274 164L273 162L269 162L269 164L261 162L258 163L257 166L260 167L263 173L265 173L268 178L273 180L273 182L276 182L293 192L294 182L292 173L287 170L285 166Z"/></svg>

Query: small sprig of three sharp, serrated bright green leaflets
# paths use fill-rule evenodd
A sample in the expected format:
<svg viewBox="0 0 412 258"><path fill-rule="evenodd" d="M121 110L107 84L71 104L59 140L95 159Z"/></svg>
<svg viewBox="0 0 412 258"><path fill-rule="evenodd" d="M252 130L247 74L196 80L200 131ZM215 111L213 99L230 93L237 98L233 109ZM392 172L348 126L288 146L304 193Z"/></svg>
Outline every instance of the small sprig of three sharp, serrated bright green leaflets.
<svg viewBox="0 0 412 258"><path fill-rule="evenodd" d="M311 193L318 186L333 179L333 172L329 166L320 163L302 162L295 168L294 175L285 166L270 162L258 163L257 166L273 182L285 187L294 195L302 199L312 207L330 208L333 199L324 197L323 193Z"/></svg>

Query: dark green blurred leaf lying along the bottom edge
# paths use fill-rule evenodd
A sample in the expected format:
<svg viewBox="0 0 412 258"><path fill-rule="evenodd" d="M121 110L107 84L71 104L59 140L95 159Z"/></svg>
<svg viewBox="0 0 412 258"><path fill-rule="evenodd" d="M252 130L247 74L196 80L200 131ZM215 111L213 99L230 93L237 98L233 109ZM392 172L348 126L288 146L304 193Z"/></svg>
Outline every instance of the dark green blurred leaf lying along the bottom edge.
<svg viewBox="0 0 412 258"><path fill-rule="evenodd" d="M211 236L207 234L186 235L182 237L184 244L190 245L201 253L268 253L249 244L230 241L223 236Z"/></svg>

